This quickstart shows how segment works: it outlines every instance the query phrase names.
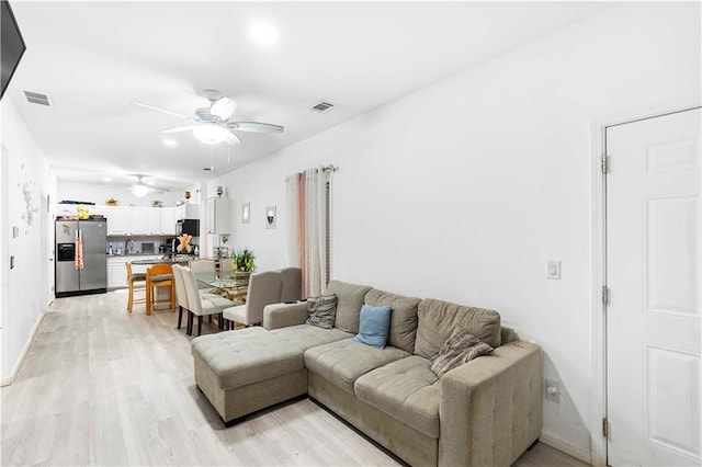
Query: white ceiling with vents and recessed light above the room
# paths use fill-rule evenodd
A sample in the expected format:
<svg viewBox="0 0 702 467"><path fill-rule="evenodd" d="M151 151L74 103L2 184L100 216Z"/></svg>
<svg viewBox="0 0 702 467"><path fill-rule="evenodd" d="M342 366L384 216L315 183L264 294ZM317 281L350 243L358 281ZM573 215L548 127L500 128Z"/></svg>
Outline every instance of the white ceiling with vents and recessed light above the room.
<svg viewBox="0 0 702 467"><path fill-rule="evenodd" d="M11 1L27 50L5 93L63 181L129 174L183 187L324 132L378 105L564 27L602 8L574 2L23 2ZM256 23L278 31L258 44ZM238 103L236 121L283 125L207 146L166 128L207 104ZM48 94L30 104L22 91ZM324 114L310 106L336 104ZM426 118L440 118L426 115ZM441 135L437 135L441 137ZM214 156L213 156L214 155Z"/></svg>

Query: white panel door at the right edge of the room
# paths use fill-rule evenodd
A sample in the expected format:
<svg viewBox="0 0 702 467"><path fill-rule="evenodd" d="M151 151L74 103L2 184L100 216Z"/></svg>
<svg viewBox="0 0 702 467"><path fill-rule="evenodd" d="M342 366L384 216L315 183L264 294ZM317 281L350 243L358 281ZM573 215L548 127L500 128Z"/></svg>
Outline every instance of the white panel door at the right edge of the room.
<svg viewBox="0 0 702 467"><path fill-rule="evenodd" d="M701 114L607 130L612 466L701 463Z"/></svg>

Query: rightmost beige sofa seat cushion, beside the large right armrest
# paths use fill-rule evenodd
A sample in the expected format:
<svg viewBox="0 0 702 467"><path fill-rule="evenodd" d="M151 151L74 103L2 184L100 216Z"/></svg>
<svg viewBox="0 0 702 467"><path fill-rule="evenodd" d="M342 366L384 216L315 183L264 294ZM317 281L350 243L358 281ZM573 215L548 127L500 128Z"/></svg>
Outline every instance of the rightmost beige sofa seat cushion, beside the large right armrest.
<svg viewBox="0 0 702 467"><path fill-rule="evenodd" d="M359 400L439 438L441 384L429 369L429 361L408 356L366 373L355 380Z"/></svg>

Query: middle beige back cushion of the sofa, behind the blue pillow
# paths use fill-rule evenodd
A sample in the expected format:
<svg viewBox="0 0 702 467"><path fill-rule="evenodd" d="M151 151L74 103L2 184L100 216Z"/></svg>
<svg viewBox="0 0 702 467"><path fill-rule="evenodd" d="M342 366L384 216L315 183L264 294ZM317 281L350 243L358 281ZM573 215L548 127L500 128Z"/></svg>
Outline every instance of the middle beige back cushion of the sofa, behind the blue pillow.
<svg viewBox="0 0 702 467"><path fill-rule="evenodd" d="M390 332L387 345L393 345L407 352L415 351L417 335L417 307L421 298L405 297L373 288L365 294L365 304L374 307L389 305L393 308L390 317Z"/></svg>

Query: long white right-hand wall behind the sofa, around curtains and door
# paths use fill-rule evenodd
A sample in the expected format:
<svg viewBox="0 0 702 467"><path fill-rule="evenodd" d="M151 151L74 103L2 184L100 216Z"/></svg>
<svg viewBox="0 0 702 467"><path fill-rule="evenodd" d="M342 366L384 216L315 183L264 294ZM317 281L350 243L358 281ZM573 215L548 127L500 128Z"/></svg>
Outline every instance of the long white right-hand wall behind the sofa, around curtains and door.
<svg viewBox="0 0 702 467"><path fill-rule="evenodd" d="M230 243L286 265L284 178L333 163L335 278L495 308L563 381L544 438L590 449L592 128L699 104L700 5L627 3L213 180ZM343 103L340 103L343 105ZM251 224L240 223L251 203ZM263 209L278 205L276 230ZM545 278L545 261L563 278Z"/></svg>

